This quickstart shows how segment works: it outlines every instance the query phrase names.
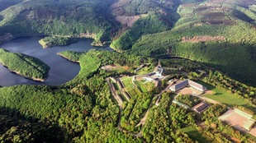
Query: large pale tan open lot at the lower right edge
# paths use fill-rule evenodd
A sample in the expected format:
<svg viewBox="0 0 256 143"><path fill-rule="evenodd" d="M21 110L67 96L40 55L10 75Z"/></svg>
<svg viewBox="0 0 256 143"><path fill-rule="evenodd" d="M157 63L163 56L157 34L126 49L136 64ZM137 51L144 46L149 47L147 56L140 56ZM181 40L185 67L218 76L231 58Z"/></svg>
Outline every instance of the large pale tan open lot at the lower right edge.
<svg viewBox="0 0 256 143"><path fill-rule="evenodd" d="M221 121L227 122L230 124L230 126L235 127L240 131L248 131L249 127L251 127L255 122L252 119L252 115L244 113L243 111L236 108L228 110L226 113L220 116L219 119Z"/></svg>

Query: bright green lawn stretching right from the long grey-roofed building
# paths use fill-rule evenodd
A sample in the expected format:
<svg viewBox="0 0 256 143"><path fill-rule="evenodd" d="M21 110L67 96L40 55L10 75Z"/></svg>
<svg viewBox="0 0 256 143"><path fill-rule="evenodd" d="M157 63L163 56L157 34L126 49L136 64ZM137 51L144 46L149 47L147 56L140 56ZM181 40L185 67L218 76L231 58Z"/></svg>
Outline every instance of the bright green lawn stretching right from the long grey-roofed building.
<svg viewBox="0 0 256 143"><path fill-rule="evenodd" d="M214 99L222 104L227 104L228 106L240 105L246 108L254 108L250 106L247 102L245 102L244 99L239 99L239 97L237 97L236 95L230 94L225 90L220 90L219 88L206 84L205 82L202 82L202 81L199 83L201 85L206 86L208 90L212 90L214 92L213 95L204 95L209 99Z"/></svg>

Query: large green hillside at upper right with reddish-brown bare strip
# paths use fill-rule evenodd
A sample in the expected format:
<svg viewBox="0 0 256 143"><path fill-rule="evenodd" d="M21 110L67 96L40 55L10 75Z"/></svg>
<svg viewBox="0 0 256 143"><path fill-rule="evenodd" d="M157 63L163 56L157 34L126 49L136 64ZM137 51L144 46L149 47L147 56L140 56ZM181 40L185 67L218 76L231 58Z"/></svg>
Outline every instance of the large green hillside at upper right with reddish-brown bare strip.
<svg viewBox="0 0 256 143"><path fill-rule="evenodd" d="M239 81L256 85L256 14L227 2L185 3L172 30L144 35L129 53L144 56L173 55L205 62Z"/></svg>

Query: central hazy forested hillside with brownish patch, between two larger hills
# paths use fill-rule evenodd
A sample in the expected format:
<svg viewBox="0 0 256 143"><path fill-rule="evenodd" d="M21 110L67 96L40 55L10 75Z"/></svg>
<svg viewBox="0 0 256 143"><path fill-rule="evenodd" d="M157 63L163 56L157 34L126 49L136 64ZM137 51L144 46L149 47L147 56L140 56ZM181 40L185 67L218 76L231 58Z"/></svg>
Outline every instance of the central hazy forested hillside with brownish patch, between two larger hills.
<svg viewBox="0 0 256 143"><path fill-rule="evenodd" d="M130 49L140 36L169 30L178 20L179 2L174 0L119 0L111 12L122 25L119 35L111 43L117 51Z"/></svg>

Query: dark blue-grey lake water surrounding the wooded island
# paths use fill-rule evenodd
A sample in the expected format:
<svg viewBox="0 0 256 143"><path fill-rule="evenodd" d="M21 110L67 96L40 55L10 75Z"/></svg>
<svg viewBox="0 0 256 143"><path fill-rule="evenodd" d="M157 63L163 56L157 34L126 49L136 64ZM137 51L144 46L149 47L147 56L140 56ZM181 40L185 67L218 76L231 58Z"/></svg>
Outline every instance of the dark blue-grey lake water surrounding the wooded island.
<svg viewBox="0 0 256 143"><path fill-rule="evenodd" d="M69 62L56 53L65 50L83 52L92 48L96 48L91 46L92 39L79 39L78 43L75 44L42 48L42 46L38 43L38 41L42 38L42 36L33 36L12 39L9 42L0 45L0 48L5 48L10 52L25 53L32 57L39 58L41 61L50 66L48 79L45 82L31 81L10 72L0 63L0 85L10 86L64 84L78 75L80 66L78 63ZM108 47L102 49L111 50L111 48Z"/></svg>

